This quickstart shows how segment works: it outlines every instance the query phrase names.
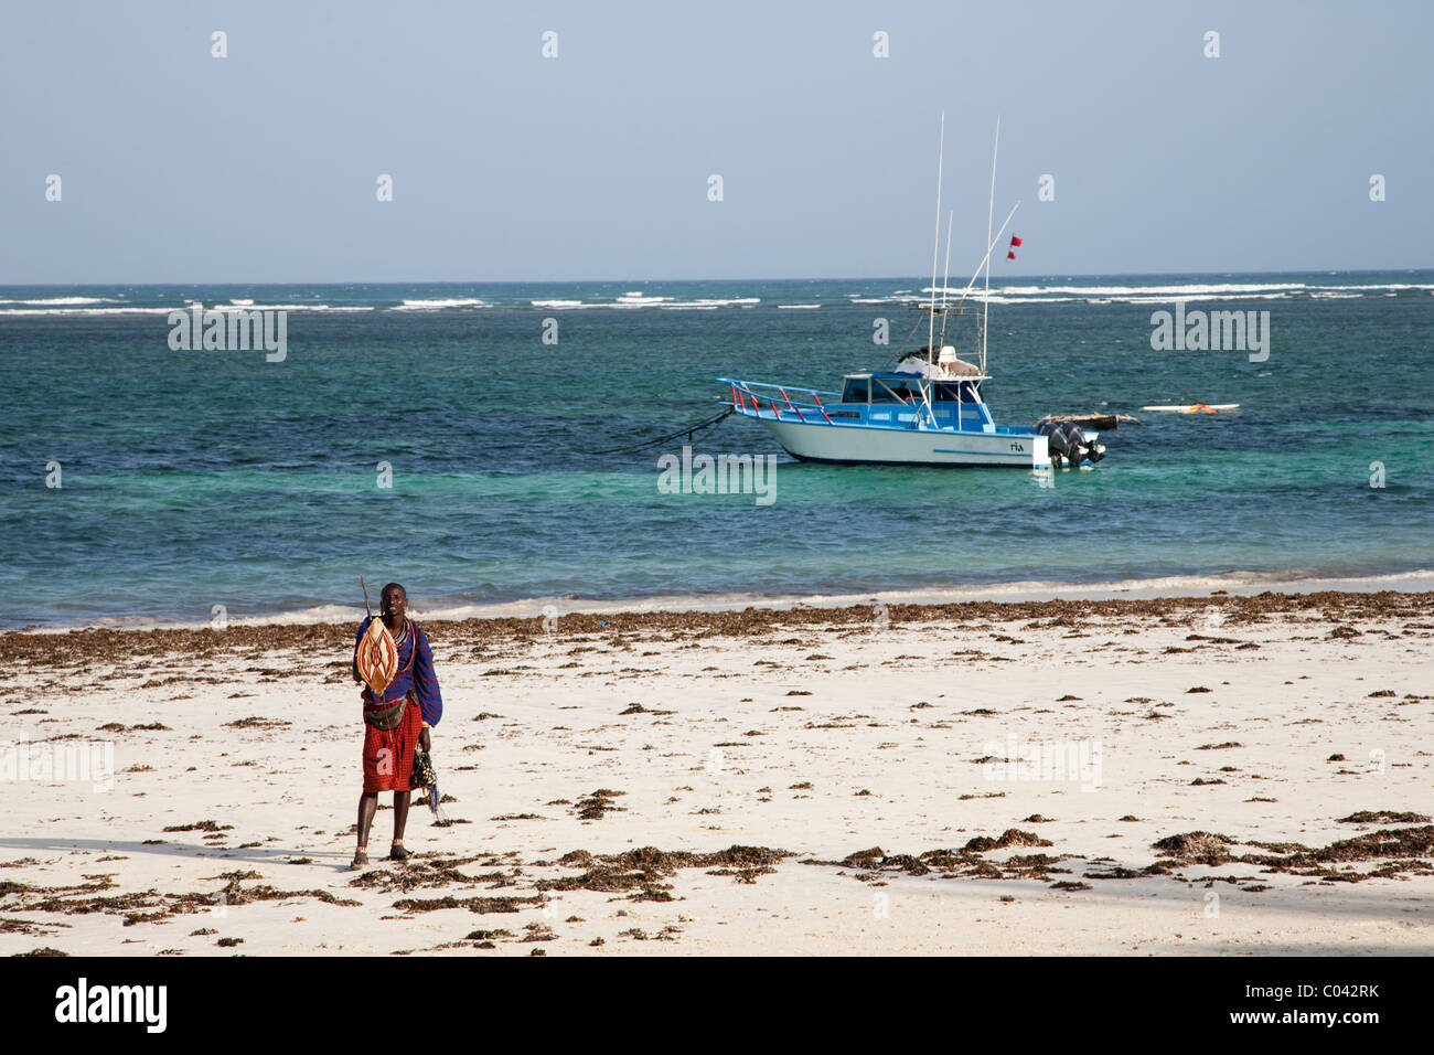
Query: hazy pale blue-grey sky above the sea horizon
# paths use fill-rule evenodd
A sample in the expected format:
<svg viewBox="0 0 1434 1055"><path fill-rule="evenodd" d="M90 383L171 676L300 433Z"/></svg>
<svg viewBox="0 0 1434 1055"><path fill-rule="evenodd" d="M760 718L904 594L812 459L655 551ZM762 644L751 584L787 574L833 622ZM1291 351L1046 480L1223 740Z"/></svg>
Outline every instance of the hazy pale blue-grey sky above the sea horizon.
<svg viewBox="0 0 1434 1055"><path fill-rule="evenodd" d="M921 274L942 109L954 273L998 113L994 276L1428 267L1431 65L1427 0L10 3L0 283Z"/></svg>

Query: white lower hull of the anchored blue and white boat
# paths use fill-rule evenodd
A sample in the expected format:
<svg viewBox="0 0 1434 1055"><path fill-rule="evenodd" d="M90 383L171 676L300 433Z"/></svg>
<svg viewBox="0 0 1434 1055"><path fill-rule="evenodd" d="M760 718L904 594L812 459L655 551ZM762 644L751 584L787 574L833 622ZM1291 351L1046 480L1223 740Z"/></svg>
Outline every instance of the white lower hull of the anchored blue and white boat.
<svg viewBox="0 0 1434 1055"><path fill-rule="evenodd" d="M756 416L756 415L749 415ZM783 415L786 416L786 415ZM1045 436L1034 432L968 429L882 429L825 422L759 418L793 458L839 465L1004 465L1045 469L1051 465Z"/></svg>

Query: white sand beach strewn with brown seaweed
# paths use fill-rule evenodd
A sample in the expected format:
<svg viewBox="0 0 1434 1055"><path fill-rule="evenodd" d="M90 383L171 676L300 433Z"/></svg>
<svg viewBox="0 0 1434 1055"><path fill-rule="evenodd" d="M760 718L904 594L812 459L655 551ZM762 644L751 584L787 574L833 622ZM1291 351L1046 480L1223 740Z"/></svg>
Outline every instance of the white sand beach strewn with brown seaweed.
<svg viewBox="0 0 1434 1055"><path fill-rule="evenodd" d="M4 636L0 953L1434 950L1434 594L605 620L424 623L360 873L351 627Z"/></svg>

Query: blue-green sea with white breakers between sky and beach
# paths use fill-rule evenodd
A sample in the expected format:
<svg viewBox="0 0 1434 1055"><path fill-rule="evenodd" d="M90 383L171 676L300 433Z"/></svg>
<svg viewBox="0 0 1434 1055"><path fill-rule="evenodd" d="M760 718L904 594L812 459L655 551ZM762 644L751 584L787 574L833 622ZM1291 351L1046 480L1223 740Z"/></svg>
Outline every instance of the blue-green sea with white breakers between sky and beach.
<svg viewBox="0 0 1434 1055"><path fill-rule="evenodd" d="M997 421L1149 422L1107 433L1097 469L1053 487L1022 471L802 465L737 419L694 448L779 454L771 505L660 494L657 455L680 442L592 454L710 416L721 375L835 388L880 366L922 286L0 287L0 626L351 606L358 574L403 580L435 609L1434 566L1431 271L997 290ZM1269 359L1153 350L1150 314L1174 297L1268 310ZM239 299L288 307L282 363L171 350L165 309ZM876 317L891 347L872 343ZM1140 412L1196 400L1242 412ZM391 489L376 487L380 461Z"/></svg>

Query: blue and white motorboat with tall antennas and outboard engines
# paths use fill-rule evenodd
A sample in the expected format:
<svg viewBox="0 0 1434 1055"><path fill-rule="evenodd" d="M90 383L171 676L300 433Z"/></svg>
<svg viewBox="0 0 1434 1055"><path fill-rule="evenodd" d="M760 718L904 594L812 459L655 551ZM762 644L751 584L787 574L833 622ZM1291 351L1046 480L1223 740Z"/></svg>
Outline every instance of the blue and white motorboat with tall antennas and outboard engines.
<svg viewBox="0 0 1434 1055"><path fill-rule="evenodd" d="M942 139L945 138L942 121ZM997 123L999 136L999 122ZM889 370L849 373L842 389L720 378L730 386L731 408L760 422L793 458L840 465L1005 465L1048 469L1098 462L1106 448L1100 433L1074 422L1047 422L1018 428L997 425L981 386L989 379L987 363L988 303L968 303L977 277L985 270L989 291L991 251L1005 233L1015 208L991 240L987 218L987 253L955 303L946 303L946 281L936 301L936 251L941 238L941 162L936 175L936 245L932 248L931 301L926 346L903 355ZM991 204L995 204L995 161L991 164ZM946 266L951 263L951 227L946 227ZM975 309L979 309L977 311ZM975 320L969 359L945 343L948 317ZM941 327L936 329L936 319ZM939 340L938 340L939 336Z"/></svg>

